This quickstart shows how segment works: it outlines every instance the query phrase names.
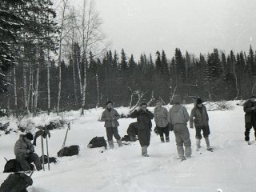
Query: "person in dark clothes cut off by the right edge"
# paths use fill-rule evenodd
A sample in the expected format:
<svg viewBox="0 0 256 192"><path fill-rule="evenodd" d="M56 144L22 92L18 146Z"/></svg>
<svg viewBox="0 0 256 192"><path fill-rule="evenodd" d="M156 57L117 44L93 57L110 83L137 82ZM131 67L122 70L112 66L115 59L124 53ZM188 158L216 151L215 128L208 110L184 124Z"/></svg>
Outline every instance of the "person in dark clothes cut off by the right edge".
<svg viewBox="0 0 256 192"><path fill-rule="evenodd" d="M250 129L254 127L254 136L256 139L256 96L252 95L250 99L243 104L245 114L246 131L245 140L250 141Z"/></svg>

